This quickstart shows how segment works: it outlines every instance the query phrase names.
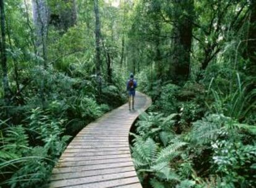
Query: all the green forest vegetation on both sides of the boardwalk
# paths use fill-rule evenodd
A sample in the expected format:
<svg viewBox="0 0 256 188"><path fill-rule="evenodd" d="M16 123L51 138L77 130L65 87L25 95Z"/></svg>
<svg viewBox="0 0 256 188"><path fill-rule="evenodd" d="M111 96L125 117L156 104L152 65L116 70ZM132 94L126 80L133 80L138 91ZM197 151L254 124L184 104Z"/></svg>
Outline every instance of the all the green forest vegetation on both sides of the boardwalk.
<svg viewBox="0 0 256 188"><path fill-rule="evenodd" d="M75 1L72 27L50 18L45 53L30 3L4 2L0 75L11 96L4 99L1 81L0 186L45 184L67 135L124 103L133 72L153 99L132 134L145 187L255 187L255 2L113 2L100 1L101 89L93 1ZM72 8L47 4L58 19Z"/></svg>

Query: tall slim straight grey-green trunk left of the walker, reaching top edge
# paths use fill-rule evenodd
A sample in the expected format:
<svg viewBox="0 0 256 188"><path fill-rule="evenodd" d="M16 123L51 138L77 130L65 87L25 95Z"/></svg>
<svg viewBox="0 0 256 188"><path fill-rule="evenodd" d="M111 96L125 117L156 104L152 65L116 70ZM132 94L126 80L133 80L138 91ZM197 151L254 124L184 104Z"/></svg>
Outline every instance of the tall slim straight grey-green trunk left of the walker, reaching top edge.
<svg viewBox="0 0 256 188"><path fill-rule="evenodd" d="M95 67L96 67L96 81L98 82L98 92L101 94L101 59L100 59L100 15L98 0L94 0L95 12Z"/></svg>

